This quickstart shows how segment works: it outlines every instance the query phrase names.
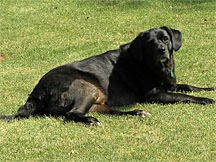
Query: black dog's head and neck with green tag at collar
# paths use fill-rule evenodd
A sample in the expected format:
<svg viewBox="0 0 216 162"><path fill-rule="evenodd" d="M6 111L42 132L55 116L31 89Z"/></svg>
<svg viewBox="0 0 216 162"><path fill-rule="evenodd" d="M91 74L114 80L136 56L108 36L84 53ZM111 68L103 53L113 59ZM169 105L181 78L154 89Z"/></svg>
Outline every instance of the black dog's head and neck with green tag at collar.
<svg viewBox="0 0 216 162"><path fill-rule="evenodd" d="M128 50L134 60L147 66L162 87L173 90L176 85L173 50L179 50L181 44L181 32L163 26L140 33Z"/></svg>

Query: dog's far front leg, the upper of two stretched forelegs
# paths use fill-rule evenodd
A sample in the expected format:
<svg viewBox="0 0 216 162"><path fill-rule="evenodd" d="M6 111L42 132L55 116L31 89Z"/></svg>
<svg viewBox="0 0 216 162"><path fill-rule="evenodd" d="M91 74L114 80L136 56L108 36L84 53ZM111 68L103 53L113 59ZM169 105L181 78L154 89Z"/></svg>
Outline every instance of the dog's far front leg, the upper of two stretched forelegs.
<svg viewBox="0 0 216 162"><path fill-rule="evenodd" d="M200 92L200 91L215 91L216 88L200 88L188 84L176 84L176 91L180 92Z"/></svg>

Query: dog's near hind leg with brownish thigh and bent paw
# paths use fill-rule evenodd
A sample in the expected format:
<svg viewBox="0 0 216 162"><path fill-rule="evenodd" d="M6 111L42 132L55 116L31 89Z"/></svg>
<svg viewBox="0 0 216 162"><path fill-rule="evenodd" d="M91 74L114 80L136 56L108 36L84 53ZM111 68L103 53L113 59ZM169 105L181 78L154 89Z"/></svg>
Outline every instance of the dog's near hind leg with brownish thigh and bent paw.
<svg viewBox="0 0 216 162"><path fill-rule="evenodd" d="M76 79L68 91L62 94L60 105L65 105L64 103L67 103L67 101L73 101L71 102L73 103L71 104L71 110L68 110L65 114L66 119L87 125L100 125L96 118L85 116L92 105L101 101L100 93L101 91L94 84L82 79Z"/></svg>

